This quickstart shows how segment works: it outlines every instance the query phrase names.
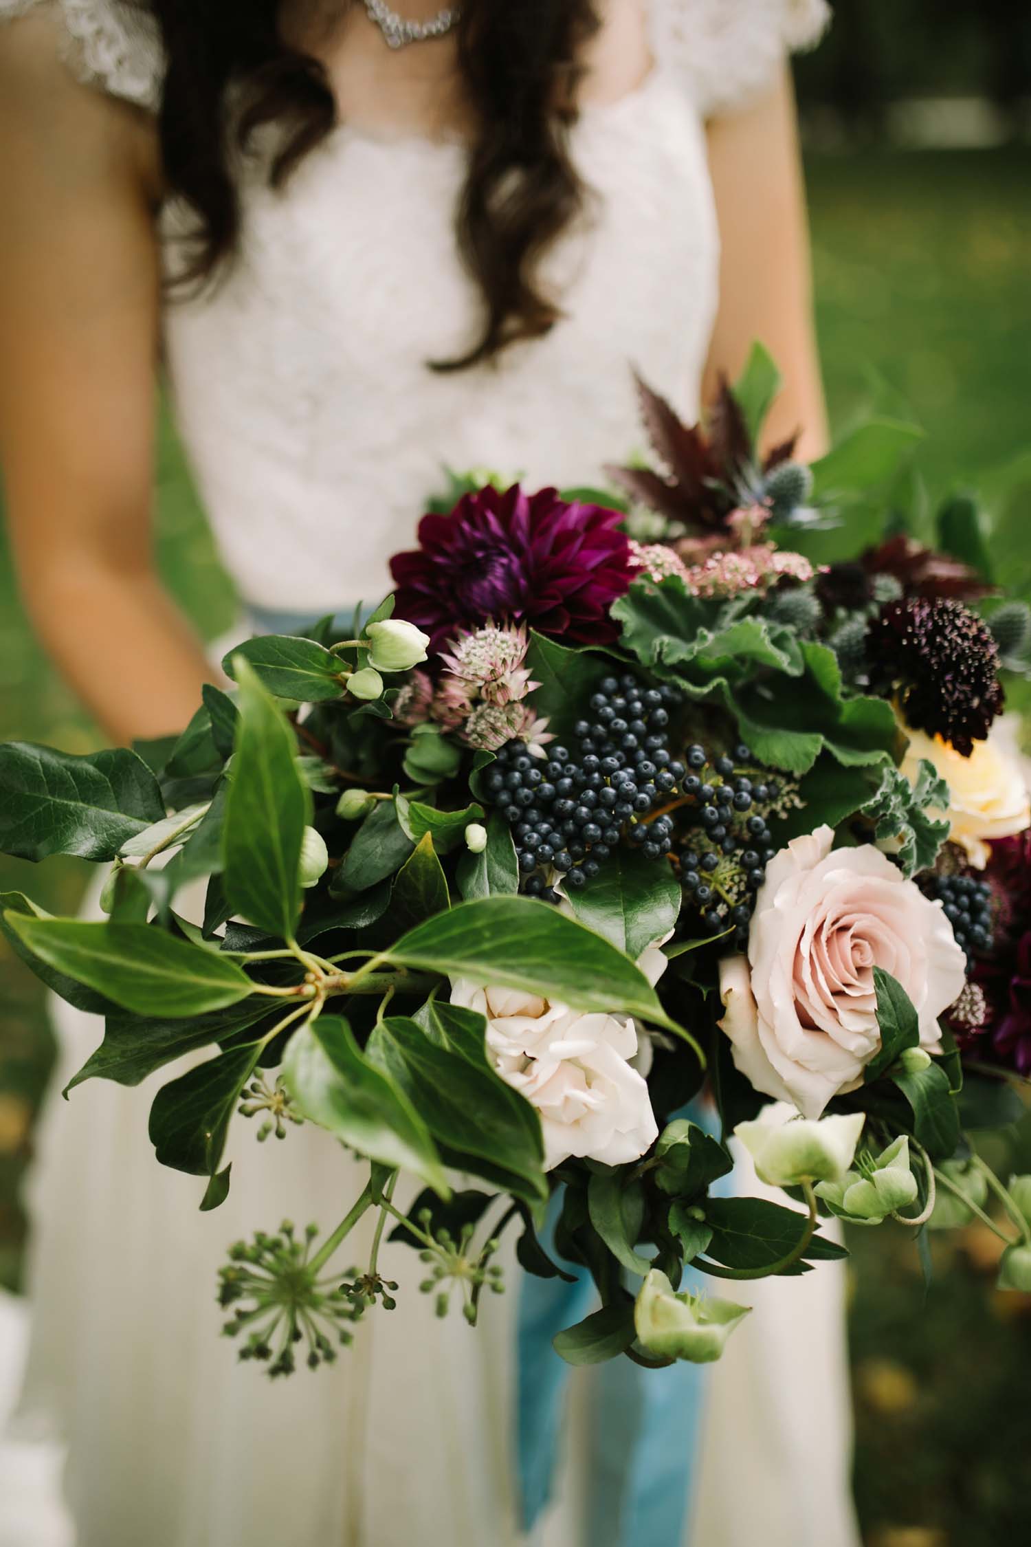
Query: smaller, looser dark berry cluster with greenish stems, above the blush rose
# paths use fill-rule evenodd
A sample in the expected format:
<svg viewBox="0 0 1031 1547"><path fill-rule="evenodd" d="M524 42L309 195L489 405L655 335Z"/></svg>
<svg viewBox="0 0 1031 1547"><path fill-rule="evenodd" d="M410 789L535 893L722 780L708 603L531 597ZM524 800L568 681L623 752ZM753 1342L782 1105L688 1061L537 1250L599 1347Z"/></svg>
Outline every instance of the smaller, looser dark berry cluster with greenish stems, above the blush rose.
<svg viewBox="0 0 1031 1547"><path fill-rule="evenodd" d="M734 948L743 950L756 893L776 852L764 812L781 798L781 784L747 746L734 747L733 756L713 756L696 743L686 763L680 789L688 831L679 855L685 907L706 934L733 930Z"/></svg>

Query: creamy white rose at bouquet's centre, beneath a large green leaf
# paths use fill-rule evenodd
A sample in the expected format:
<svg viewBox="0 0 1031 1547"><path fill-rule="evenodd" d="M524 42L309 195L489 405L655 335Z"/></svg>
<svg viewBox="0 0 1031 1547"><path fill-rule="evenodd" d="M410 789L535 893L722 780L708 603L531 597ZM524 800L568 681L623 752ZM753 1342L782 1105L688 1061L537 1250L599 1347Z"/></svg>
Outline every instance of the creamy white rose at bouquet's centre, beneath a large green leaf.
<svg viewBox="0 0 1031 1547"><path fill-rule="evenodd" d="M487 1054L541 1115L544 1170L569 1156L623 1165L658 1135L648 1084L632 1067L634 1021L584 1015L521 989L451 981L451 1004L487 1018Z"/></svg>

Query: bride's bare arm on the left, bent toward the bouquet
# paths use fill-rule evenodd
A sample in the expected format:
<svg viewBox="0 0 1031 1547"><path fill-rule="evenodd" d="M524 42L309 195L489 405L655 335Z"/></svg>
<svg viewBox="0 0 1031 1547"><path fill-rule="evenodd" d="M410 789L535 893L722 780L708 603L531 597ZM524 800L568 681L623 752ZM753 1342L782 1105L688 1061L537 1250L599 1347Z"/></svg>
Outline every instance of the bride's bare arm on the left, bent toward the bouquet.
<svg viewBox="0 0 1031 1547"><path fill-rule="evenodd" d="M0 28L0 466L26 606L119 741L210 678L151 557L153 128L77 85L53 17Z"/></svg>

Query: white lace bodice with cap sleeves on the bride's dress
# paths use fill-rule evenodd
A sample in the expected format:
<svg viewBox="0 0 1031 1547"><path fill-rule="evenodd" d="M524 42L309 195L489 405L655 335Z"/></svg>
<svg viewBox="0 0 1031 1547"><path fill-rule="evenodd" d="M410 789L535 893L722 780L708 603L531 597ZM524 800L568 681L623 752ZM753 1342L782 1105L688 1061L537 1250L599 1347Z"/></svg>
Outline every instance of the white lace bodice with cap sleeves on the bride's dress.
<svg viewBox="0 0 1031 1547"><path fill-rule="evenodd" d="M142 107L161 56L130 0L0 0L63 12L76 71ZM388 588L442 467L589 483L638 442L631 367L682 413L717 299L719 237L703 121L812 42L824 0L649 0L654 68L587 107L573 153L590 213L549 252L563 320L493 367L431 374L476 333L454 252L456 142L340 125L277 193L244 189L240 260L207 297L173 302L165 354L184 444L241 594L320 613ZM175 266L182 212L165 209Z"/></svg>

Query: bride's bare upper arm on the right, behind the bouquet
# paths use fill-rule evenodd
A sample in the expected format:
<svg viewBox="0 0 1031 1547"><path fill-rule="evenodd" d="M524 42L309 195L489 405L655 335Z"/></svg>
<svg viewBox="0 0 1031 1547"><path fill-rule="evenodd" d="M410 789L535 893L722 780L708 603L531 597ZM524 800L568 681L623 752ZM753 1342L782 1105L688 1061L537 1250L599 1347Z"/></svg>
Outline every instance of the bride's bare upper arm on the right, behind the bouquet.
<svg viewBox="0 0 1031 1547"><path fill-rule="evenodd" d="M827 449L827 410L812 316L808 224L795 93L785 68L765 101L709 125L709 167L720 224L720 308L705 402L719 371L731 379L759 339L784 374L768 444L802 430L799 455Z"/></svg>

